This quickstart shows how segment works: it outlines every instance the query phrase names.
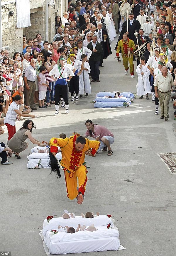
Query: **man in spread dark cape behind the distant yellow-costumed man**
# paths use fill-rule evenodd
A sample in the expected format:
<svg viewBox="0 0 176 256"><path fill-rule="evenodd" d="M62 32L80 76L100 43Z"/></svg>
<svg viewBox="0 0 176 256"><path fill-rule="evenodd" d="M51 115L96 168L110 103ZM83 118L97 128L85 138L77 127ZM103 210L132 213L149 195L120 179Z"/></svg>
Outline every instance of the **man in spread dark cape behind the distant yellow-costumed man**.
<svg viewBox="0 0 176 256"><path fill-rule="evenodd" d="M128 34L128 38L131 39L131 40L135 40L135 31L139 31L139 29L141 28L141 24L139 21L137 21L136 19L134 19L134 15L133 13L129 13L129 19L128 19L128 32L127 32L127 21L124 21L123 24L122 24L122 31L120 33L120 36L119 36L119 40L118 42L123 38L123 34ZM117 49L117 46L118 46L118 42L116 44L116 48L115 48L115 51Z"/></svg>

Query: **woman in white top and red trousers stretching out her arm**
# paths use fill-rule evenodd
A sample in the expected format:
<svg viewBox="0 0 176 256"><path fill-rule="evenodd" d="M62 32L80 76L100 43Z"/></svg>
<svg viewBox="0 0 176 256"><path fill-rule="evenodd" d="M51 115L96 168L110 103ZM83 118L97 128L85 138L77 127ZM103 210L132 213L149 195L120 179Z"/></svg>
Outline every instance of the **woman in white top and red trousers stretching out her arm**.
<svg viewBox="0 0 176 256"><path fill-rule="evenodd" d="M10 104L6 117L4 119L4 124L6 124L8 134L9 134L8 140L10 140L13 137L13 135L16 133L15 120L19 121L18 115L22 117L31 117L31 118L35 117L35 115L23 114L21 113L21 111L19 111L19 105L22 103L21 99L22 98L20 95L16 95L15 97L12 97L13 102Z"/></svg>

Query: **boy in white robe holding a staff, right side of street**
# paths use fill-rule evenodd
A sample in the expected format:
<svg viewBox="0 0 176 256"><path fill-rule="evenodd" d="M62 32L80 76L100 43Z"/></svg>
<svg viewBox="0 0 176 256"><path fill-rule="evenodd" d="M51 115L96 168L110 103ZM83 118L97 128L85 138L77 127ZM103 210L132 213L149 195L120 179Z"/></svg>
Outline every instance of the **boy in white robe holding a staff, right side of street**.
<svg viewBox="0 0 176 256"><path fill-rule="evenodd" d="M145 57L141 57L141 64L137 66L136 73L138 74L137 95L141 95L139 99L143 99L145 95L146 99L149 99L148 93L151 93L151 86L149 81L150 70L145 64Z"/></svg>

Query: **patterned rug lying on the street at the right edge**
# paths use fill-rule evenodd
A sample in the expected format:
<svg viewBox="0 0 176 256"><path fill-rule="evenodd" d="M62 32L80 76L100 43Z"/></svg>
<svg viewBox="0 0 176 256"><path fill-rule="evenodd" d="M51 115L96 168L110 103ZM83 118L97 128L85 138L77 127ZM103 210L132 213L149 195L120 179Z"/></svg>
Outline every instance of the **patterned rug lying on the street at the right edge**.
<svg viewBox="0 0 176 256"><path fill-rule="evenodd" d="M176 174L176 153L158 154L172 174Z"/></svg>

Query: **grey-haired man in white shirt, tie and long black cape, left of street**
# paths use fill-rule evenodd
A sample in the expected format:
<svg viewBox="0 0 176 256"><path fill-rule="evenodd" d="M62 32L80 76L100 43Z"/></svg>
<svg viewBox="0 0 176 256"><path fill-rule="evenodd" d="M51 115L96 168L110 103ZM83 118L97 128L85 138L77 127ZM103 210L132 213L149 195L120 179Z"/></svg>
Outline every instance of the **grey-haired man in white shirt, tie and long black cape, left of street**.
<svg viewBox="0 0 176 256"><path fill-rule="evenodd" d="M103 53L101 54L101 60L100 60L100 67L103 67L102 65L103 59L107 58L109 54L112 54L112 51L109 43L108 33L106 30L102 29L102 23L99 22L97 27L98 29L96 31L99 34L100 44L103 48ZM107 35L106 41L104 41L103 35Z"/></svg>

